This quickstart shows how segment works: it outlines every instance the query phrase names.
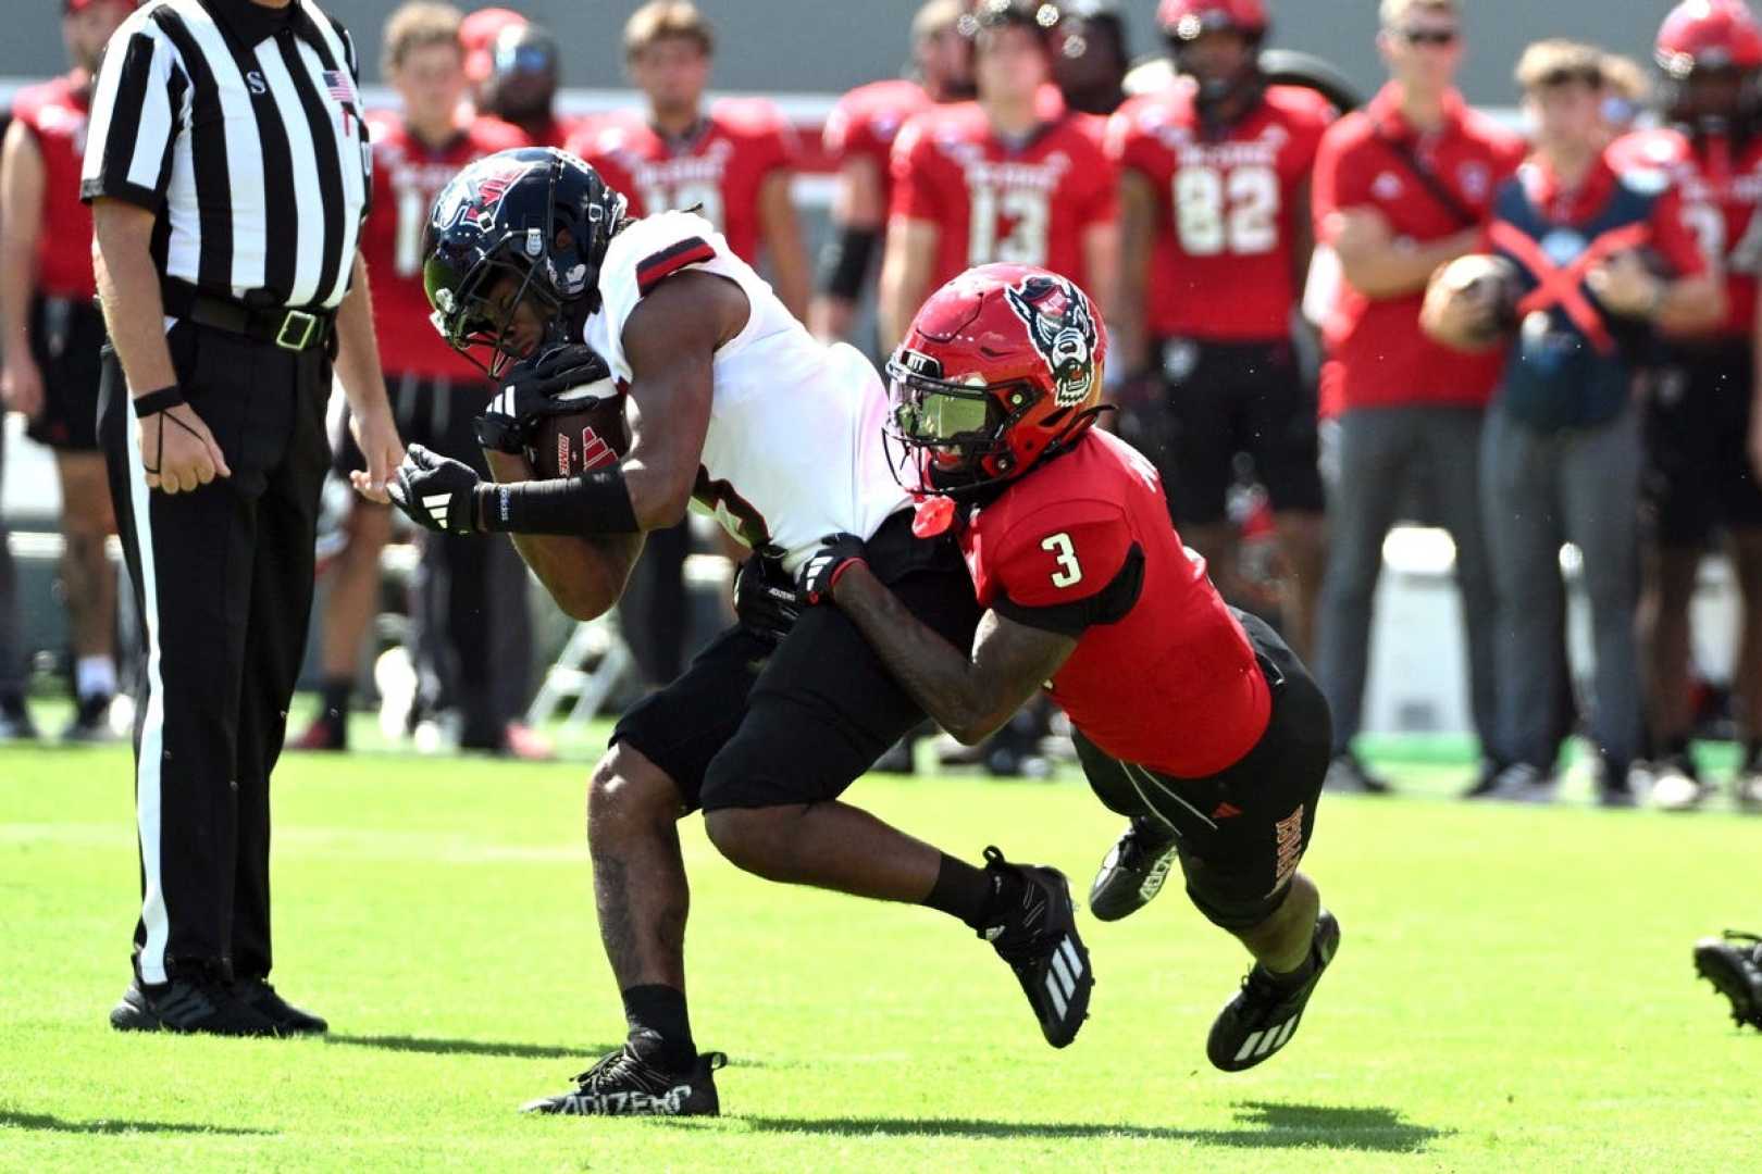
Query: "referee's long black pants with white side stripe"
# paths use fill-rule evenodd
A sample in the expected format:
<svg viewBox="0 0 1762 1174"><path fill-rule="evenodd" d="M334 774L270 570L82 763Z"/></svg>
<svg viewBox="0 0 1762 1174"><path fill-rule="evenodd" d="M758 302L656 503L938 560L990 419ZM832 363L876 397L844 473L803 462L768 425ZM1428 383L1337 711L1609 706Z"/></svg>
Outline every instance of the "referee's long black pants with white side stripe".
<svg viewBox="0 0 1762 1174"><path fill-rule="evenodd" d="M270 973L270 771L312 614L331 357L180 322L178 385L231 477L150 491L106 347L99 440L146 634L136 715L143 982ZM157 463L157 454L146 454Z"/></svg>

